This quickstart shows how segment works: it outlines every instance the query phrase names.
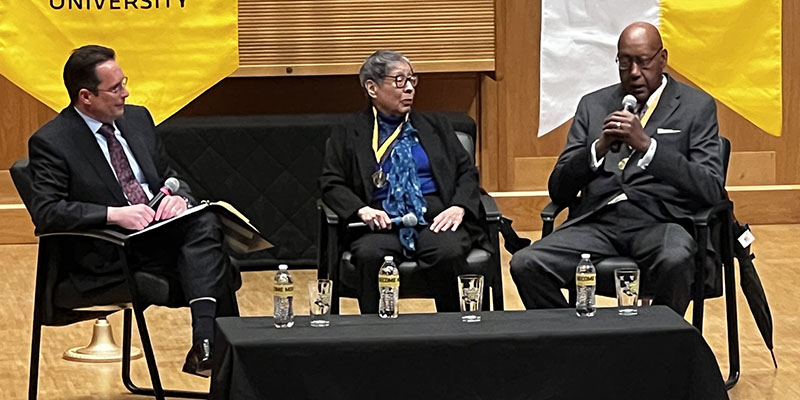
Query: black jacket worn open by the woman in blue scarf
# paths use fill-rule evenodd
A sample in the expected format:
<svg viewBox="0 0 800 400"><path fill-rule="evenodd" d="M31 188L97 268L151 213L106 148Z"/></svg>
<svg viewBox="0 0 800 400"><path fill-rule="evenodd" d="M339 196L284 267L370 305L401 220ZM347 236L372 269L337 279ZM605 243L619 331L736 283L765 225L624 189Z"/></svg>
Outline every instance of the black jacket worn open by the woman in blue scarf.
<svg viewBox="0 0 800 400"><path fill-rule="evenodd" d="M453 127L444 118L411 111L411 124L430 160L439 197L449 206L464 208L464 225L476 240L483 240L478 170ZM377 163L372 151L375 123L372 109L353 116L346 128L334 132L325 151L320 186L322 200L340 217L357 219L356 213L372 203L372 174Z"/></svg>

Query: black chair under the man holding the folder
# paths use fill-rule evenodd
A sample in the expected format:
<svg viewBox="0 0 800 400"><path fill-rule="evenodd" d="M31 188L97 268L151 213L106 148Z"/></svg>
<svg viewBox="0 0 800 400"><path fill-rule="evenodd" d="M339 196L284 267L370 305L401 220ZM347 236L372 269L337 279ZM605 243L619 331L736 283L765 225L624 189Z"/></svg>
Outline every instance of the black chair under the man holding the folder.
<svg viewBox="0 0 800 400"><path fill-rule="evenodd" d="M25 206L30 209L34 193L28 160L22 159L11 167L11 177ZM119 247L126 282L89 296L77 292L67 279L70 246L74 241L102 240ZM28 398L36 399L39 384L39 353L42 326L64 326L76 322L105 317L123 311L122 337L122 382L134 394L166 397L204 399L208 393L181 390L165 390L161 386L153 346L144 319L144 310L150 305L184 307L179 285L164 276L142 271L132 271L127 264L130 243L126 236L113 230L97 229L82 232L49 233L39 236L39 252L36 265L36 289L33 303L33 333L31 338L31 364L28 382ZM134 284L131 284L134 283ZM131 310L131 303L133 309ZM136 315L136 325L142 339L147 368L152 388L136 386L131 370L131 311Z"/></svg>

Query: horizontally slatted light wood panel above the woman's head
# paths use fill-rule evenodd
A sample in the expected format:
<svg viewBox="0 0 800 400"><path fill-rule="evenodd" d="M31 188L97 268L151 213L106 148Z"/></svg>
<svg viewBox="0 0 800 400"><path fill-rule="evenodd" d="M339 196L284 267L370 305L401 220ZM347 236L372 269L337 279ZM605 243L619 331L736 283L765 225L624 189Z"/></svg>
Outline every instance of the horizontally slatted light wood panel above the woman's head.
<svg viewBox="0 0 800 400"><path fill-rule="evenodd" d="M421 72L494 70L493 0L239 0L237 76L354 74L376 49Z"/></svg>

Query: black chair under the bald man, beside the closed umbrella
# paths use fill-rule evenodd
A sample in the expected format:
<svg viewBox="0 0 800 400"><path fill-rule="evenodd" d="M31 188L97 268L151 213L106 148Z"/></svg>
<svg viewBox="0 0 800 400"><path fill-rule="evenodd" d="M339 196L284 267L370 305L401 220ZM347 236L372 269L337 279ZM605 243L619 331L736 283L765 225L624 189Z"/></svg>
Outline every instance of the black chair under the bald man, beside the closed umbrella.
<svg viewBox="0 0 800 400"><path fill-rule="evenodd" d="M720 137L720 156L724 168L723 179L728 173L728 162L730 160L731 143L727 138ZM576 199L579 201L580 199ZM573 204L574 206L574 204ZM555 203L548 204L542 210L542 237L553 232L553 224L556 216L565 208L566 205ZM692 324L700 333L703 332L703 312L705 299L722 296L723 287L725 292L725 307L728 329L728 357L730 370L728 379L725 381L727 389L736 385L739 380L739 330L736 314L736 283L733 268L733 230L732 230L732 210L733 203L726 198L714 206L702 210L692 217L693 232L692 236L697 242L697 253L695 254L694 285L692 287ZM706 282L706 259L707 245L711 241L711 247L716 253L715 267L717 274L713 277L713 282ZM629 257L609 257L600 260L596 264L597 269L597 294L601 296L615 297L614 270L618 268L636 268L638 265ZM723 274L724 272L724 274ZM723 282L724 275L724 282ZM708 289L710 290L707 290ZM568 288L570 304L575 304L575 288ZM642 297L646 300L652 299L652 288L647 287L647 282L642 282Z"/></svg>

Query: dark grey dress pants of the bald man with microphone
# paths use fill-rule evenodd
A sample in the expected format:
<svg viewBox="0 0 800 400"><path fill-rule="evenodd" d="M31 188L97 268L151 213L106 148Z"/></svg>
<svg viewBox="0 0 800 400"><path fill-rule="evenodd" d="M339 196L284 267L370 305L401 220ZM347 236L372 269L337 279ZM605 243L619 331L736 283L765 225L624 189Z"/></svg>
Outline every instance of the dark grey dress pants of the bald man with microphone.
<svg viewBox="0 0 800 400"><path fill-rule="evenodd" d="M691 300L696 243L673 222L659 221L630 200L606 205L594 215L556 229L511 258L511 276L527 309L568 307L561 288L575 285L581 253L592 262L631 257L654 304L683 315Z"/></svg>

